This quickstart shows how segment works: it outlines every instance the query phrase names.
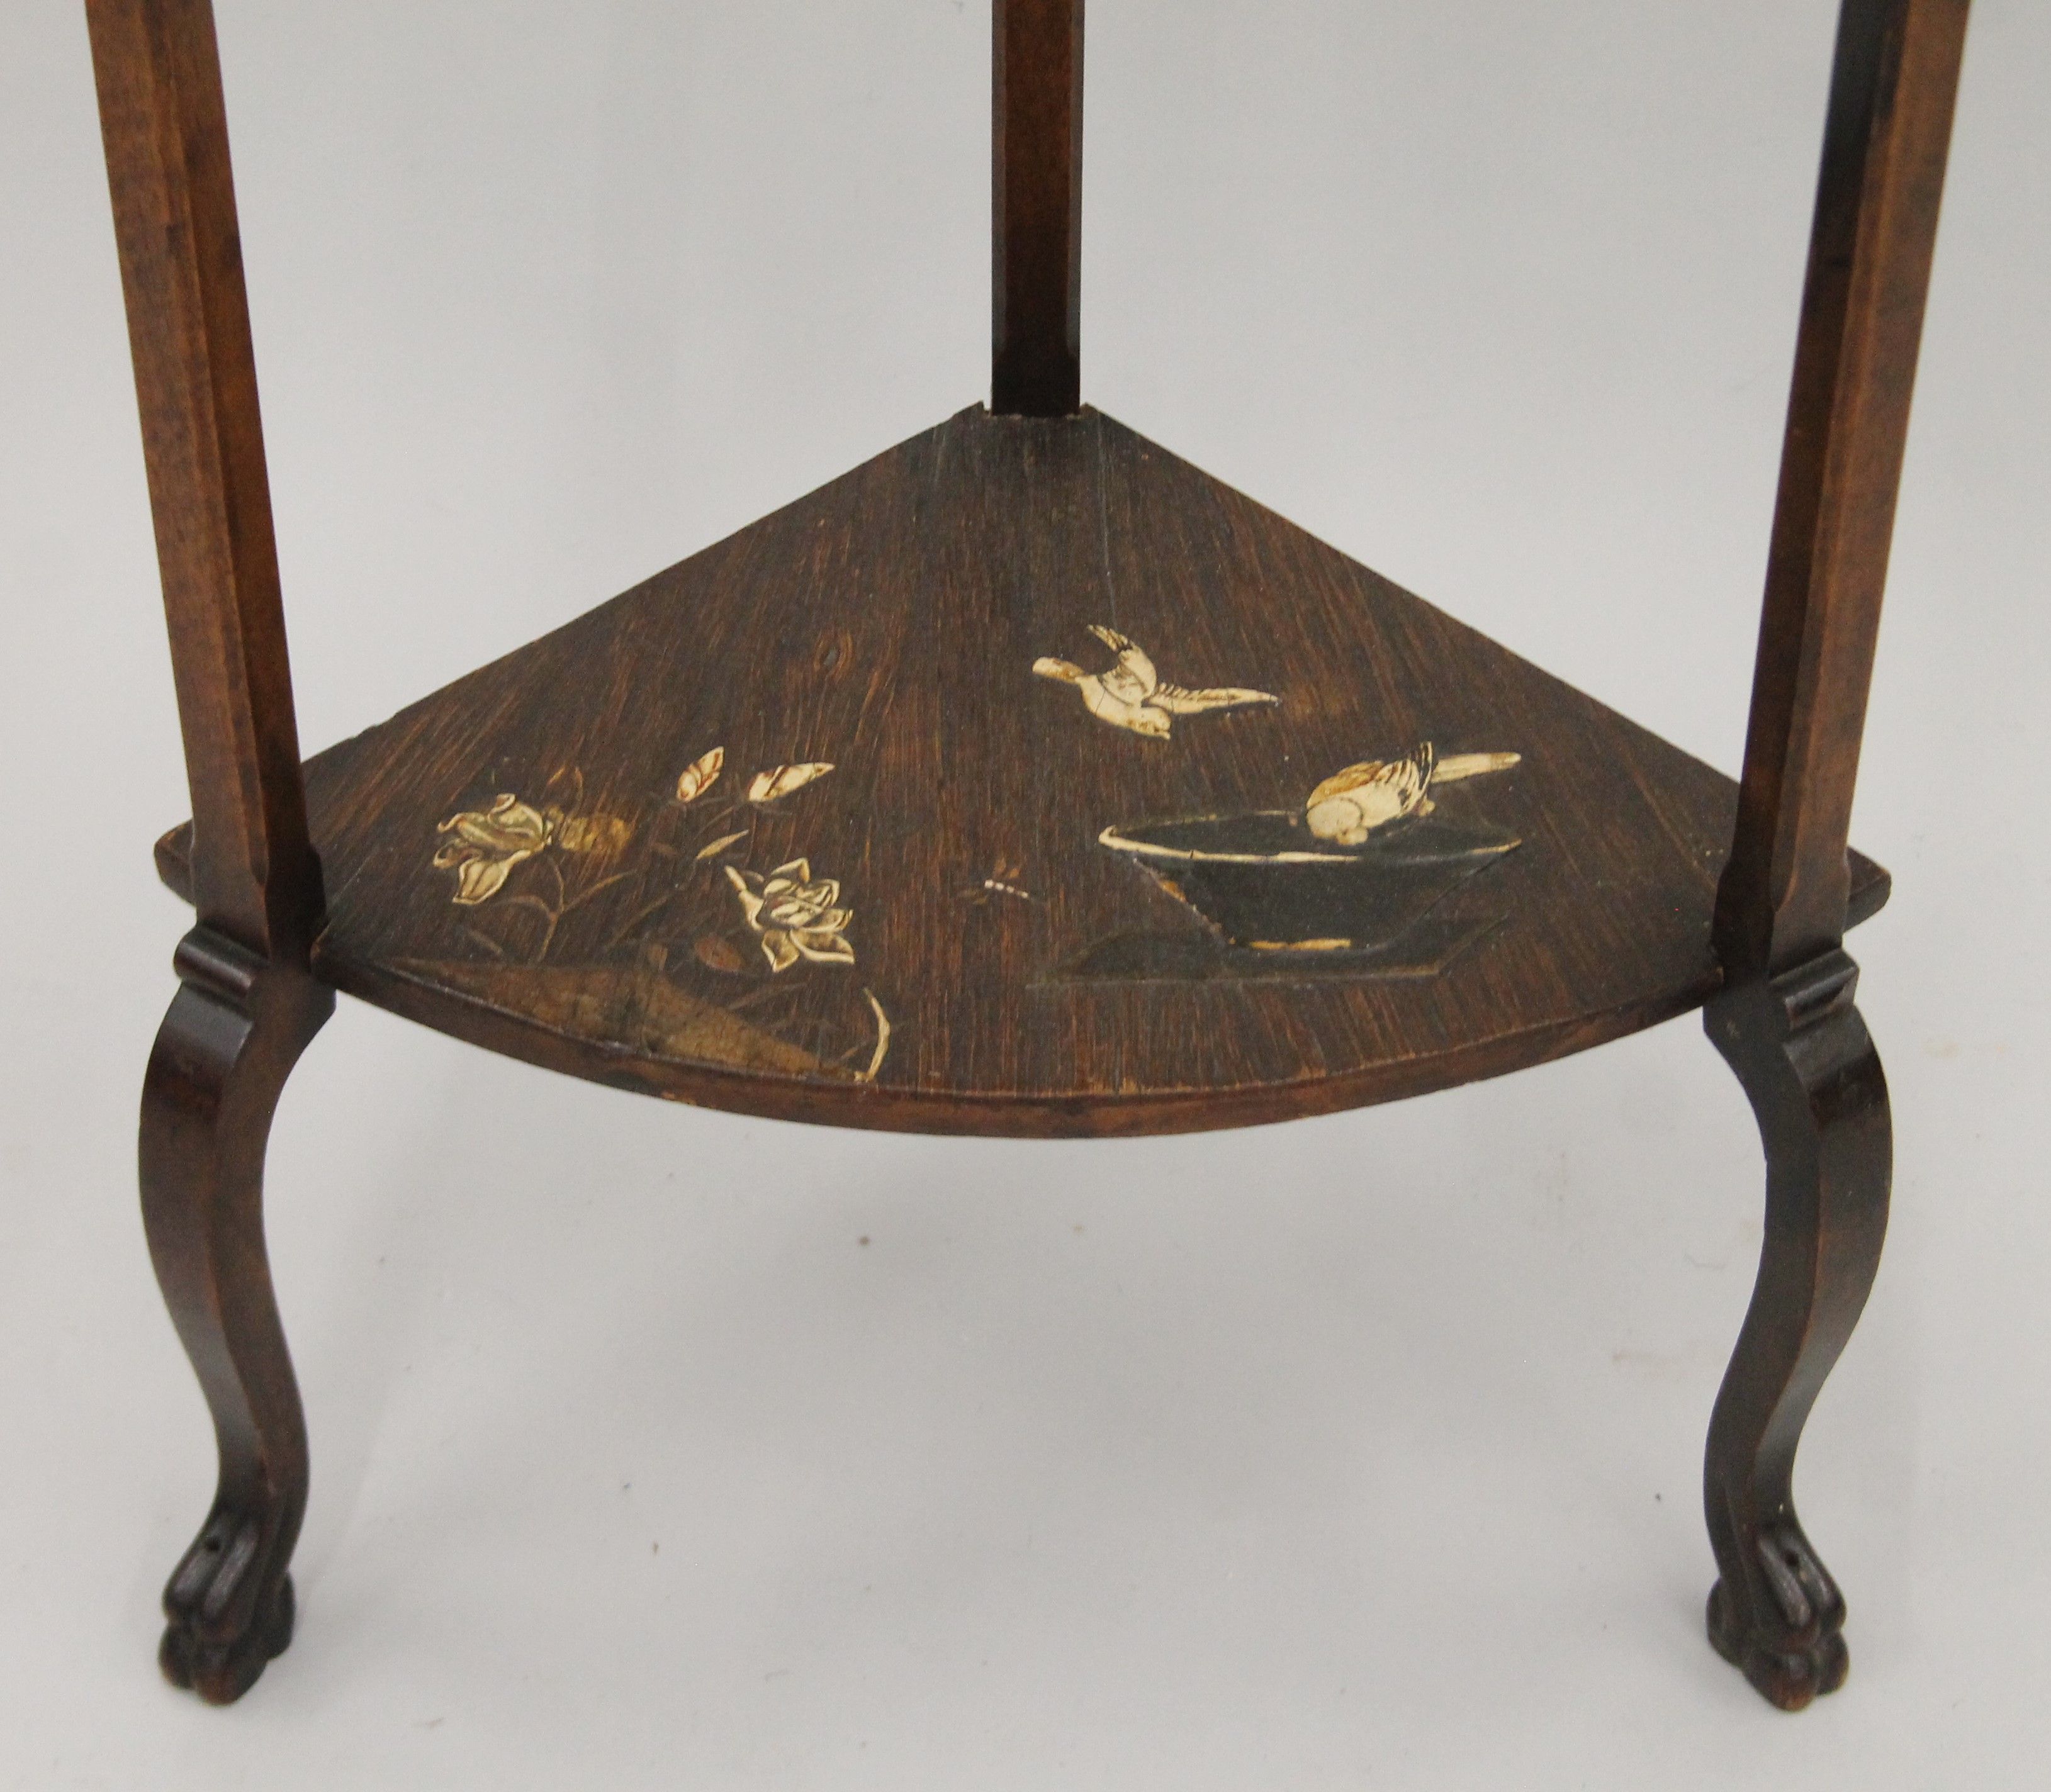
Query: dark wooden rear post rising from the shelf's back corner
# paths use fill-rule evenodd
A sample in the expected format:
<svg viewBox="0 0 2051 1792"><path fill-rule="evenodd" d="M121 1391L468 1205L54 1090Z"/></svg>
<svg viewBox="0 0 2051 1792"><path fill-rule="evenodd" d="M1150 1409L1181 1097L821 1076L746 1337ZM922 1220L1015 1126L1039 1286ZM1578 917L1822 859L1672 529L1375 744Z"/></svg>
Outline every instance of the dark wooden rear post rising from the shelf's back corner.
<svg viewBox="0 0 2051 1792"><path fill-rule="evenodd" d="M995 0L991 410L1081 404L1083 0Z"/></svg>

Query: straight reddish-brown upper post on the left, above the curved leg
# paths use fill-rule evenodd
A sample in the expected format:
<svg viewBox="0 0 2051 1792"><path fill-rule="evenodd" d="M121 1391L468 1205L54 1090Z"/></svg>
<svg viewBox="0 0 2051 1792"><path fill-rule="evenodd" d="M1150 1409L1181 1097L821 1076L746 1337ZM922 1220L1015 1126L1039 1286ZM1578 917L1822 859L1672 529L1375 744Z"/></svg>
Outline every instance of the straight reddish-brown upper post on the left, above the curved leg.
<svg viewBox="0 0 2051 1792"><path fill-rule="evenodd" d="M207 0L88 0L203 927L304 962L320 921Z"/></svg>

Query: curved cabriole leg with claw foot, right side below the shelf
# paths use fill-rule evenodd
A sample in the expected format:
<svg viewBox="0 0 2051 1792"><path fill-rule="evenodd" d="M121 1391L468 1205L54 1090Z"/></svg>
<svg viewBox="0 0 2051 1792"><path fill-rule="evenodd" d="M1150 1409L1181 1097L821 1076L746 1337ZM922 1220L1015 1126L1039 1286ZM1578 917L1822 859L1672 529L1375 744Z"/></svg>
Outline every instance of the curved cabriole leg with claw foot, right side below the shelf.
<svg viewBox="0 0 2051 1792"><path fill-rule="evenodd" d="M1827 951L1717 996L1708 1037L1766 1146L1766 1245L1708 1425L1704 1507L1719 1581L1717 1653L1782 1710L1844 1685L1844 1595L1795 1517L1795 1450L1873 1288L1887 1232L1887 1078Z"/></svg>

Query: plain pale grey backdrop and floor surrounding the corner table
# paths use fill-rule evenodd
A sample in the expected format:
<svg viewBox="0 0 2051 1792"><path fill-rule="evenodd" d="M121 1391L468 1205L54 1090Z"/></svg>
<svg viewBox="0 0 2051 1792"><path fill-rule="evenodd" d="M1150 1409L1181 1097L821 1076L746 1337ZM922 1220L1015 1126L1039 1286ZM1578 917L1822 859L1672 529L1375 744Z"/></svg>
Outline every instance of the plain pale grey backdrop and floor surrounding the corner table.
<svg viewBox="0 0 2051 1792"><path fill-rule="evenodd" d="M80 8L0 12L0 1782L2035 1782L2051 8L1975 8L1930 306L1856 822L1895 1226L1801 1466L1854 1673L1799 1720L1700 1634L1760 1165L1692 1021L1026 1146L345 1005L271 1158L301 1634L162 1687L183 771ZM1832 23L1093 0L1085 394L1735 767ZM984 394L978 0L219 27L310 748Z"/></svg>

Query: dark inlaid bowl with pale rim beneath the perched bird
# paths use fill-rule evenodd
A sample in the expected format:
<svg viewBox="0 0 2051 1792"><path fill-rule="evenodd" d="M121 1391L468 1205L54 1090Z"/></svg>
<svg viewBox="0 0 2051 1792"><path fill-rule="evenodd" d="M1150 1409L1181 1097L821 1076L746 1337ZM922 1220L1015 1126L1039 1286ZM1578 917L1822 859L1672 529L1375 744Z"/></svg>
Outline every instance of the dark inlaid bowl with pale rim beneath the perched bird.
<svg viewBox="0 0 2051 1792"><path fill-rule="evenodd" d="M1376 951L1477 871L1516 851L1485 822L1411 816L1358 847L1317 839L1302 816L1259 810L1105 828L1233 945L1272 951Z"/></svg>

